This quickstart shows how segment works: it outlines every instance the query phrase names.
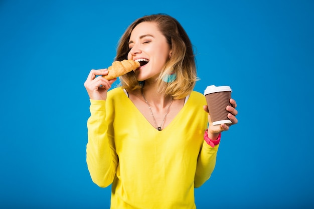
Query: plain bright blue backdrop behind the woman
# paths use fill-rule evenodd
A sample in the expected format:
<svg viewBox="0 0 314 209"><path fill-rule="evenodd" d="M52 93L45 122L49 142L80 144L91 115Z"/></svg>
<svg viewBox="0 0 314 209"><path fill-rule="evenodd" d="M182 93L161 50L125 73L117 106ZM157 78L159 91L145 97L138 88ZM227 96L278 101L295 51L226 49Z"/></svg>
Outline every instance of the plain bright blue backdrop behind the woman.
<svg viewBox="0 0 314 209"><path fill-rule="evenodd" d="M0 1L0 207L109 207L85 161L83 83L111 65L131 22L166 13L195 46L195 90L230 85L238 103L198 208L313 208L313 11L300 0Z"/></svg>

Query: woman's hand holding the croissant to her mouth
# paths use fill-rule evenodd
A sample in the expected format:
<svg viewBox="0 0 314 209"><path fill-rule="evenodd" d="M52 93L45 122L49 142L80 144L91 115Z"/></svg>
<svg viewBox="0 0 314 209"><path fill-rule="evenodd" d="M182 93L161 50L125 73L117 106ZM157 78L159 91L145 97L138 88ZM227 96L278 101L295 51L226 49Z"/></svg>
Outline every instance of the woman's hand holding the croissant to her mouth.
<svg viewBox="0 0 314 209"><path fill-rule="evenodd" d="M112 79L108 81L102 76L108 74L107 69L91 70L86 81L84 82L84 87L87 90L88 96L93 100L106 100L108 89L111 88L111 84L117 79ZM97 76L97 77L96 77Z"/></svg>

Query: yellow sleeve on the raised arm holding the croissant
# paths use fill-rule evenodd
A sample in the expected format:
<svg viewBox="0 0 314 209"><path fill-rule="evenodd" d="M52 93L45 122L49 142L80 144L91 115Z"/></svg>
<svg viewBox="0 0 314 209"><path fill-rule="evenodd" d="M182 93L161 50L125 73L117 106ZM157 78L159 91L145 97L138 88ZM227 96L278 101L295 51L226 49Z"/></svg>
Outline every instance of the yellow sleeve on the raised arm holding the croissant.
<svg viewBox="0 0 314 209"><path fill-rule="evenodd" d="M106 187L114 179L117 157L113 146L109 145L106 101L90 100L90 102L86 162L93 182L100 187Z"/></svg>

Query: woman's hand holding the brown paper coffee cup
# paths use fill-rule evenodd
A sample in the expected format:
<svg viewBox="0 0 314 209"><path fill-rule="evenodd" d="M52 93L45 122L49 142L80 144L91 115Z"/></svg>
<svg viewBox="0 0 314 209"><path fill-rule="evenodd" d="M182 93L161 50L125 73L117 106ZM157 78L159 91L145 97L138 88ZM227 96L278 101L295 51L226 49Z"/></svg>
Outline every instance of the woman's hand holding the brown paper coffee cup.
<svg viewBox="0 0 314 209"><path fill-rule="evenodd" d="M237 107L237 103L234 99L230 99L230 105L228 105L226 107L226 110L229 112L228 113L228 118L231 120L231 124L221 124L221 125L213 125L212 124L212 120L211 120L211 117L210 117L210 114L208 114L208 122L209 122L209 125L208 125L208 137L210 139L213 139L215 140L219 133L223 132L223 131L227 131L229 130L229 127L231 125L234 125L234 124L237 124L238 123L238 119L235 117L237 114L238 114L238 111L235 109ZM204 105L204 110L206 112L208 112L208 107L207 105Z"/></svg>

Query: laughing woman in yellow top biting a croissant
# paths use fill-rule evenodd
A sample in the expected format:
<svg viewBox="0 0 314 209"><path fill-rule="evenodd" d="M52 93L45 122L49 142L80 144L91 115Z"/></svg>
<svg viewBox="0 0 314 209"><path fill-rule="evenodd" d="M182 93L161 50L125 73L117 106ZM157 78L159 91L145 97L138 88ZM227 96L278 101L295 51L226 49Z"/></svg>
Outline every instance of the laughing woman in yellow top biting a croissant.
<svg viewBox="0 0 314 209"><path fill-rule="evenodd" d="M96 77L107 69L91 70L84 84L92 180L112 184L111 208L196 208L194 187L210 177L220 133L229 126L213 126L204 95L193 91L192 44L174 18L145 16L119 41L116 60L124 59L141 66L120 77L121 87L108 91L116 79ZM230 103L236 124L236 102Z"/></svg>

